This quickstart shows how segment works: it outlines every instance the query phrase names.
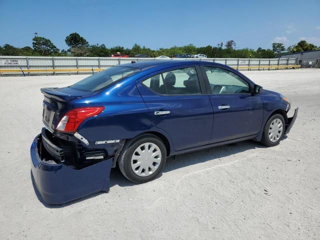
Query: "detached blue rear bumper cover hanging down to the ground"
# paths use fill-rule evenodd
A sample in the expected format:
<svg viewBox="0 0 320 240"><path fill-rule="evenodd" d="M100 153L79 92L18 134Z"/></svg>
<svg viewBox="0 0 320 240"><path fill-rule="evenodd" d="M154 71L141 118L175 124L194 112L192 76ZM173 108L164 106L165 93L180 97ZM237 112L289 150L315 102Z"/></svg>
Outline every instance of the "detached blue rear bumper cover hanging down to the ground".
<svg viewBox="0 0 320 240"><path fill-rule="evenodd" d="M40 140L39 140L40 139ZM109 174L112 158L82 169L74 169L63 163L50 164L38 153L42 144L41 134L31 145L31 171L36 188L47 203L59 204L99 191L109 191Z"/></svg>

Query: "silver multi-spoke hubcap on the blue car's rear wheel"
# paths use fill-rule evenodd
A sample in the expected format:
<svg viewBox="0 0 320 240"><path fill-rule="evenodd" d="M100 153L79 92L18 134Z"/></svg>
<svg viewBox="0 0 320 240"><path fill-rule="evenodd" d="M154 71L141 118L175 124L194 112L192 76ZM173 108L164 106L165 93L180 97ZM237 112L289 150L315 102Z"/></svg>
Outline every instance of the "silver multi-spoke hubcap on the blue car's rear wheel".
<svg viewBox="0 0 320 240"><path fill-rule="evenodd" d="M138 176L149 176L156 171L160 162L159 147L152 142L146 142L134 150L131 157L131 168Z"/></svg>

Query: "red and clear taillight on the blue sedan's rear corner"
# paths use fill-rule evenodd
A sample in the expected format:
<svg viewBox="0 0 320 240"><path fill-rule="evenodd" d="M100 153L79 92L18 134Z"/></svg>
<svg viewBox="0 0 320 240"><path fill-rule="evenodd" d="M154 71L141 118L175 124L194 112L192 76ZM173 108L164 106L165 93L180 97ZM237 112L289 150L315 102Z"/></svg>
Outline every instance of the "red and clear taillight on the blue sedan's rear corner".
<svg viewBox="0 0 320 240"><path fill-rule="evenodd" d="M76 128L90 116L96 116L104 110L104 106L88 106L88 107L79 107L69 110L64 116L60 119L56 130L62 132L75 132Z"/></svg>

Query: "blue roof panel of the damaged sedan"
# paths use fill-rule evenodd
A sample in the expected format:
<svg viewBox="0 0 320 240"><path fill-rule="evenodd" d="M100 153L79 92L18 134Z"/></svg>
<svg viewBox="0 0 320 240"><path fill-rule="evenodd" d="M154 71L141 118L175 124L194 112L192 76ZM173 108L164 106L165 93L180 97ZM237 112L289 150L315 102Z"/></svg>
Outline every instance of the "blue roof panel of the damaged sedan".
<svg viewBox="0 0 320 240"><path fill-rule="evenodd" d="M157 68L167 68L172 66L179 66L184 64L210 64L215 66L224 66L224 64L210 62L210 61L199 61L199 60L150 60L150 61L132 61L131 63L124 63L120 66L128 66L128 67L134 67L141 70L157 67Z"/></svg>

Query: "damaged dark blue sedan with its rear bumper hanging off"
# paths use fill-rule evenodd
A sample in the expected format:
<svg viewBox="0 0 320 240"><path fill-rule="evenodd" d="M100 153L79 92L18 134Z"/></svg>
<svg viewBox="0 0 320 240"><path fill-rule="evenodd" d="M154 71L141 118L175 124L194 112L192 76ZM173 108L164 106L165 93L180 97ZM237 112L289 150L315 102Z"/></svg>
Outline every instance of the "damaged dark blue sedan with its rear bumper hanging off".
<svg viewBox="0 0 320 240"><path fill-rule="evenodd" d="M239 71L195 60L132 61L41 92L31 170L49 203L108 191L116 164L143 183L176 154L247 139L275 146L298 112L288 117L288 98Z"/></svg>

